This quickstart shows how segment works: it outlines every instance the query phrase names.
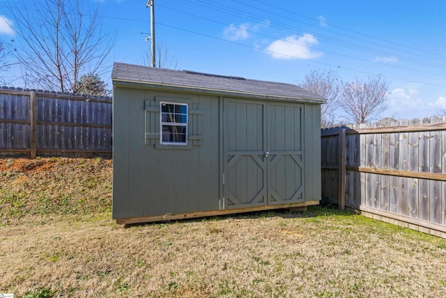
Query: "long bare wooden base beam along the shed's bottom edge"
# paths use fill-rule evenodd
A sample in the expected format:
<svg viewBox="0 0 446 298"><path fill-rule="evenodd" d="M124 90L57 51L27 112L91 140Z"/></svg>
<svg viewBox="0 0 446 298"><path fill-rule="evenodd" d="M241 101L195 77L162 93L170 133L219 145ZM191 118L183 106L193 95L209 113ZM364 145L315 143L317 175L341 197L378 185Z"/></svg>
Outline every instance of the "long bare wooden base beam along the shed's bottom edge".
<svg viewBox="0 0 446 298"><path fill-rule="evenodd" d="M313 206L313 205L318 205L318 204L319 204L319 201L316 200L316 201L308 201L308 202L302 202L302 203L280 204L280 205L250 207L250 208L240 208L240 209L198 211L198 212L179 213L179 214L167 213L164 215L156 215L156 216L118 218L118 219L116 219L116 223L118 223L118 225L131 225L133 223L153 223L155 221L173 221L176 219L185 219L185 218L218 216L218 215L225 215L225 214L238 214L238 213L244 213L244 212L264 211L264 210L272 210L272 209L307 207L307 206Z"/></svg>

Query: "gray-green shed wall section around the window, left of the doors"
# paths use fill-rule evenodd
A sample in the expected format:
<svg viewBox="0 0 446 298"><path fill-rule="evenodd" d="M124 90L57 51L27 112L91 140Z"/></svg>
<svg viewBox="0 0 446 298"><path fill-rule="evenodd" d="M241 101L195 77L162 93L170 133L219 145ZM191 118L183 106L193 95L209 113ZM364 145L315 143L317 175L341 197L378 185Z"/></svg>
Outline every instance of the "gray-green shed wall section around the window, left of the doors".
<svg viewBox="0 0 446 298"><path fill-rule="evenodd" d="M196 140L189 146L160 147L159 136L154 142L147 138L147 129L159 129L157 98L199 109L190 114ZM151 101L152 112L146 108ZM114 218L220 208L219 105L218 96L114 88Z"/></svg>

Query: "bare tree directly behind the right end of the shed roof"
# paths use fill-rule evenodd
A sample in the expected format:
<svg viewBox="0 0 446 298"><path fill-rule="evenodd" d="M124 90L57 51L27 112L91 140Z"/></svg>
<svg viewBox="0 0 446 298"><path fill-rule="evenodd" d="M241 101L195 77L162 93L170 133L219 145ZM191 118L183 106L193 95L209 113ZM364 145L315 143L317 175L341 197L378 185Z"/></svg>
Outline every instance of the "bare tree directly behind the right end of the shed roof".
<svg viewBox="0 0 446 298"><path fill-rule="evenodd" d="M337 81L337 75L333 70L327 72L312 70L311 73L305 75L305 80L300 83L300 87L303 89L327 99L327 102L321 105L321 127L334 125L334 113L338 107L340 91Z"/></svg>

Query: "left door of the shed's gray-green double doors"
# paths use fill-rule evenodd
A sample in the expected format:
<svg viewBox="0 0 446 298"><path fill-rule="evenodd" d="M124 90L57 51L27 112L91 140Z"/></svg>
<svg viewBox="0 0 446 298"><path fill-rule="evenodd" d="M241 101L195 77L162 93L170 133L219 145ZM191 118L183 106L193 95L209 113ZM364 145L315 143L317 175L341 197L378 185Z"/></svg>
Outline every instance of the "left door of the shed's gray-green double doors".
<svg viewBox="0 0 446 298"><path fill-rule="evenodd" d="M266 105L224 98L225 208L266 204Z"/></svg>

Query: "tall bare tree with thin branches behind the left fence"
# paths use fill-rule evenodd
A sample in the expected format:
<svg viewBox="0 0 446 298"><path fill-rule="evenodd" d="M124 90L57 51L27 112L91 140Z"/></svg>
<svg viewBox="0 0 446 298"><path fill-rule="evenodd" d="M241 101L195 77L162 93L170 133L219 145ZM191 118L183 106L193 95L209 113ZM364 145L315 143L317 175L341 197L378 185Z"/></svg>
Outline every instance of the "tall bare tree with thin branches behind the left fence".
<svg viewBox="0 0 446 298"><path fill-rule="evenodd" d="M43 89L78 92L81 73L107 71L105 58L114 34L102 31L98 6L84 9L82 0L10 3L23 45L16 52L25 82Z"/></svg>

